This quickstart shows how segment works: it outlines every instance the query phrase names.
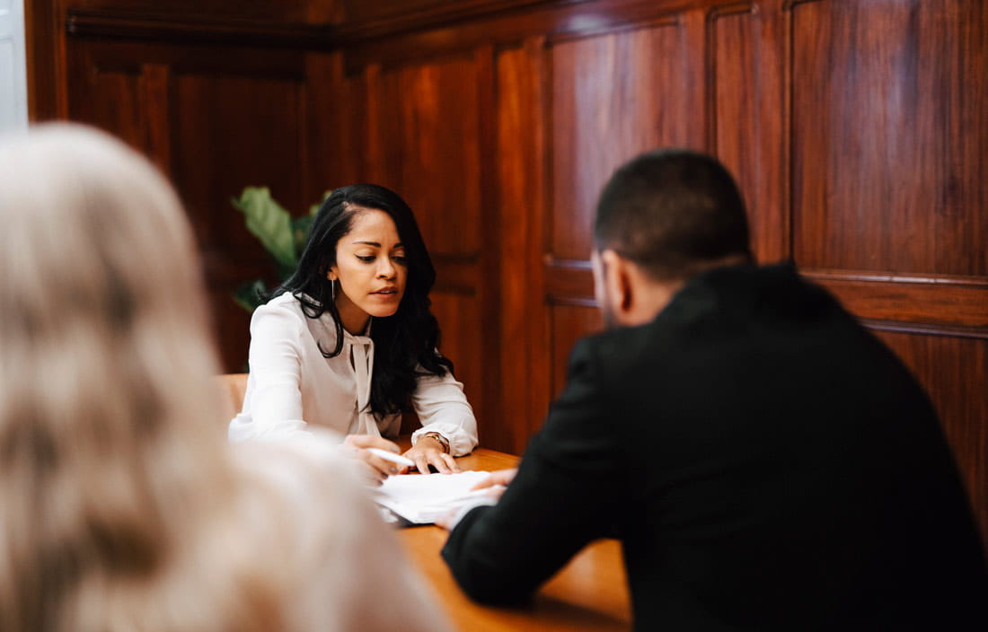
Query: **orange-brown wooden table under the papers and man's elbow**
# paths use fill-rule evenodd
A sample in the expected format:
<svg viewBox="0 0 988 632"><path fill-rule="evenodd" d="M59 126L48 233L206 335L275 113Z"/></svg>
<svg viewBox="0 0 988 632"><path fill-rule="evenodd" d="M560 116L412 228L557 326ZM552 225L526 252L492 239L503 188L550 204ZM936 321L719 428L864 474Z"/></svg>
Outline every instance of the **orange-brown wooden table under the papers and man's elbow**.
<svg viewBox="0 0 988 632"><path fill-rule="evenodd" d="M463 470L514 467L518 457L477 448L456 459ZM487 607L471 601L456 586L440 549L446 531L438 526L415 526L399 531L405 550L429 580L439 600L460 630L629 630L631 608L627 582L616 540L586 547L535 594L526 607Z"/></svg>

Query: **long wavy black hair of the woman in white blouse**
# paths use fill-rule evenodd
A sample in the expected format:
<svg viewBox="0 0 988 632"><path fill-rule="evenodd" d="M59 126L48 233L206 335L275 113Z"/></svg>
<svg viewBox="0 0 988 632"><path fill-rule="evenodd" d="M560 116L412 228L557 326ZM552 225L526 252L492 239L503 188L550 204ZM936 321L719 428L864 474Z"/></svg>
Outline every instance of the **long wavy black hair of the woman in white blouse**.
<svg viewBox="0 0 988 632"><path fill-rule="evenodd" d="M354 216L365 209L382 210L394 220L408 266L408 281L398 311L386 318L374 318L371 326L374 352L368 407L380 418L410 409L410 396L419 375L453 372L453 362L437 351L439 323L429 310L429 291L436 282L436 269L405 200L378 185L351 185L333 191L312 221L298 268L272 292L271 298L291 292L307 317L332 314L336 347L327 351L320 344L319 351L326 357L339 356L343 350L343 324L326 274L336 265L337 243L350 232Z"/></svg>

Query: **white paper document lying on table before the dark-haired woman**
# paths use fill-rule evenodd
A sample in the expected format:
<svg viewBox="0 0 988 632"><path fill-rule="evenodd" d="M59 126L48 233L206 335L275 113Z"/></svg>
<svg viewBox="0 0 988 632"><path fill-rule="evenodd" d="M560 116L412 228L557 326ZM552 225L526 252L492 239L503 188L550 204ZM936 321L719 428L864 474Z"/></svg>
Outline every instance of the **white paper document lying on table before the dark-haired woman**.
<svg viewBox="0 0 988 632"><path fill-rule="evenodd" d="M470 502L485 490L470 492L490 472L457 474L399 474L389 476L376 490L374 501L414 524L431 524Z"/></svg>

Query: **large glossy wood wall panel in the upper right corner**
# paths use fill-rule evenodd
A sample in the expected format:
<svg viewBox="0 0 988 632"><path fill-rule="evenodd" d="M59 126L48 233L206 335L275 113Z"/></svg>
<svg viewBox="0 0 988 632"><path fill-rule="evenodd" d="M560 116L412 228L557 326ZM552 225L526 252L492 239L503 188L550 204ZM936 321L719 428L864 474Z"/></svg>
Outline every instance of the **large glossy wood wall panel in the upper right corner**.
<svg viewBox="0 0 988 632"><path fill-rule="evenodd" d="M809 2L791 13L796 261L988 274L984 4Z"/></svg>

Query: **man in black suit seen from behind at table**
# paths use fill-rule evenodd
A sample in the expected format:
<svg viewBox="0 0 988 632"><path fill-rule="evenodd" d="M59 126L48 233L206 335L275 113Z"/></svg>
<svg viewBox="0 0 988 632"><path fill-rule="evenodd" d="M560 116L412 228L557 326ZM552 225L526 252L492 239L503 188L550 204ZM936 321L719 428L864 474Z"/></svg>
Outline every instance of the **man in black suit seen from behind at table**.
<svg viewBox="0 0 988 632"><path fill-rule="evenodd" d="M825 290L752 263L723 167L639 156L594 233L609 331L574 348L500 502L445 520L463 590L523 601L610 536L638 630L988 630L929 400Z"/></svg>

